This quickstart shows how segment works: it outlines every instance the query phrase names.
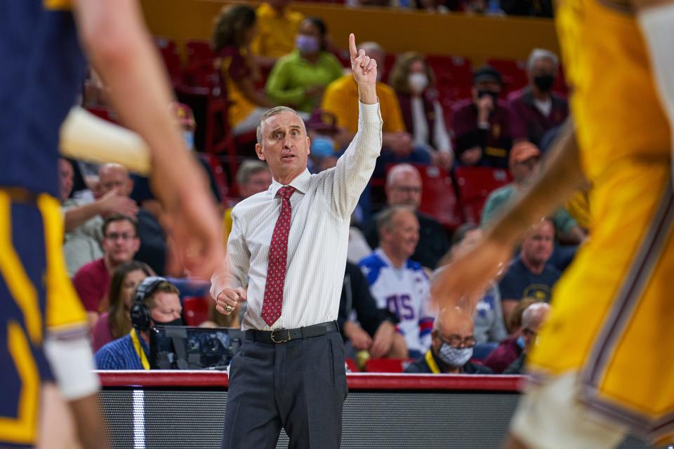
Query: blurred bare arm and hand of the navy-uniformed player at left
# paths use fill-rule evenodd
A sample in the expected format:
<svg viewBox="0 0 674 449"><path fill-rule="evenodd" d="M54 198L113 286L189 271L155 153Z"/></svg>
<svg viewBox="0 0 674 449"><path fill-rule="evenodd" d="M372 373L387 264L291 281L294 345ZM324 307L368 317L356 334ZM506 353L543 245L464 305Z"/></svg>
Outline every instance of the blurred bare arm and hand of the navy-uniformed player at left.
<svg viewBox="0 0 674 449"><path fill-rule="evenodd" d="M169 81L136 0L74 0L81 42L129 128L147 143L152 185L173 219L171 234L193 274L222 260L220 227L206 182L171 119Z"/></svg>

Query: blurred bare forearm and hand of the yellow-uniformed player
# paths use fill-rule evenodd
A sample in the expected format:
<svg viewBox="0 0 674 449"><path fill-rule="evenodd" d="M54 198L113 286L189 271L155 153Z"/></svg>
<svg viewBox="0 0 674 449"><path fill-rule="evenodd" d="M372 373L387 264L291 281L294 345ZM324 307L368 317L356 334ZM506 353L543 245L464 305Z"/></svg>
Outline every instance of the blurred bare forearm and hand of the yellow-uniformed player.
<svg viewBox="0 0 674 449"><path fill-rule="evenodd" d="M524 232L537 220L550 215L584 182L574 126L569 121L560 131L536 180L503 208L475 248L456 257L436 277L433 299L440 307L464 305L475 309L490 281L510 260ZM459 304L466 300L468 304Z"/></svg>

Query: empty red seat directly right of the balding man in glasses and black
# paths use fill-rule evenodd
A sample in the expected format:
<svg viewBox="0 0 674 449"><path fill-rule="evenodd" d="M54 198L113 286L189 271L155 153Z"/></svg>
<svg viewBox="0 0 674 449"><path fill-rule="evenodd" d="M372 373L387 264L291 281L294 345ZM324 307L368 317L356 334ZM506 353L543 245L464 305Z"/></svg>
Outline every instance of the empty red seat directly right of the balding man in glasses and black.
<svg viewBox="0 0 674 449"><path fill-rule="evenodd" d="M419 211L435 218L444 227L459 227L463 223L463 217L449 173L435 166L417 165L416 168L421 173L423 185Z"/></svg>

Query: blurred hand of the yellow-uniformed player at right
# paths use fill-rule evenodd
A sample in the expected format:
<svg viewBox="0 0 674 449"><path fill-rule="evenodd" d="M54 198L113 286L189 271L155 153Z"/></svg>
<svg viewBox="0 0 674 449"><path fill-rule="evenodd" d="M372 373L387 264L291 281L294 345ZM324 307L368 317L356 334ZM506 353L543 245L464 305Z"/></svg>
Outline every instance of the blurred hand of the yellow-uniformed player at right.
<svg viewBox="0 0 674 449"><path fill-rule="evenodd" d="M473 314L475 305L512 255L512 246L488 237L463 253L459 251L435 277L431 286L433 302L441 310L469 307Z"/></svg>

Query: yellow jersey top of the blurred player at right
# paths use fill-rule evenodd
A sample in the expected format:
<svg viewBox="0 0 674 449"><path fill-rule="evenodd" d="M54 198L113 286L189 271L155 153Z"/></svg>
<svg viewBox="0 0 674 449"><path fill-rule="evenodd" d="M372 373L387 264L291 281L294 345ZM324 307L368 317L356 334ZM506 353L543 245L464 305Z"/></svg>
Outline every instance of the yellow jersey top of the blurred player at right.
<svg viewBox="0 0 674 449"><path fill-rule="evenodd" d="M668 161L669 122L630 6L561 0L556 18L586 175L626 158Z"/></svg>

